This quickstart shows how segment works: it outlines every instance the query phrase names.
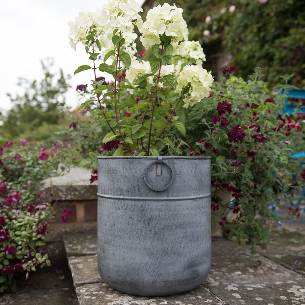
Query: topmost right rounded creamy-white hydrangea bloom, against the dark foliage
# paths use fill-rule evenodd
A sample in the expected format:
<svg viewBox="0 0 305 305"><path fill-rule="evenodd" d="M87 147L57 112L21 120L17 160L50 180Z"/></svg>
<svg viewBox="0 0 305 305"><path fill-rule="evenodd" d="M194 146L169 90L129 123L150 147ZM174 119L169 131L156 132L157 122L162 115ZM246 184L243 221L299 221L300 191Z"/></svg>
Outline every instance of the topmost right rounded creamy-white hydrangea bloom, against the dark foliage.
<svg viewBox="0 0 305 305"><path fill-rule="evenodd" d="M175 5L164 3L150 9L144 23L138 19L137 26L142 33L140 41L143 46L149 49L154 44L160 44L163 34L170 36L173 42L187 40L188 29L182 11Z"/></svg>

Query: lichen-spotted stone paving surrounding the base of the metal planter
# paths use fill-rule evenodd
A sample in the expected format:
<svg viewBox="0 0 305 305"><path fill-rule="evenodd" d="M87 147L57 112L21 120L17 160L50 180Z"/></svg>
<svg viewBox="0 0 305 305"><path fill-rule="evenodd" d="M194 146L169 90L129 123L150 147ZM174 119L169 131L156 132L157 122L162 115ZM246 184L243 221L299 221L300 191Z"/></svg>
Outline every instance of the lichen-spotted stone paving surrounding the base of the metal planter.
<svg viewBox="0 0 305 305"><path fill-rule="evenodd" d="M285 224L272 232L274 245L260 250L254 261L248 247L213 237L206 282L190 292L164 297L123 294L103 283L93 253L94 233L67 236L64 241L80 305L305 305L305 223Z"/></svg>

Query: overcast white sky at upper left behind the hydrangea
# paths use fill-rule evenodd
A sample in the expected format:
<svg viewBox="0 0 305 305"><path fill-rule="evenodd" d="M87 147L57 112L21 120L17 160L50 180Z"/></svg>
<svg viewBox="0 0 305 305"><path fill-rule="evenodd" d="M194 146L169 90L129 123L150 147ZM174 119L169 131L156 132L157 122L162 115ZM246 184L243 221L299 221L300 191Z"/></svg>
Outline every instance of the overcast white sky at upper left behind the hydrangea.
<svg viewBox="0 0 305 305"><path fill-rule="evenodd" d="M15 96L19 77L30 81L42 79L41 60L54 58L54 67L64 74L73 75L81 65L90 64L85 51L79 46L77 53L68 39L68 21L74 21L81 11L95 11L106 0L15 0L1 1L0 45L0 111L12 104L6 93ZM87 84L91 74L76 74L70 83L67 105L76 107L76 86Z"/></svg>

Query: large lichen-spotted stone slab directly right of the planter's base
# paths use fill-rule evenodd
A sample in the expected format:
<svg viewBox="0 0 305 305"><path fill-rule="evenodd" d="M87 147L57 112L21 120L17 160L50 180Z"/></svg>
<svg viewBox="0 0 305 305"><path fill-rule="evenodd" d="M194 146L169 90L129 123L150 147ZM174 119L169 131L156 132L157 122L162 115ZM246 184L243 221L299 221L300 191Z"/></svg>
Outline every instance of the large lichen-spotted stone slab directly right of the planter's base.
<svg viewBox="0 0 305 305"><path fill-rule="evenodd" d="M249 248L216 238L212 242L212 267L205 286L228 305L305 305L305 277L256 255ZM257 262L256 262L257 263Z"/></svg>

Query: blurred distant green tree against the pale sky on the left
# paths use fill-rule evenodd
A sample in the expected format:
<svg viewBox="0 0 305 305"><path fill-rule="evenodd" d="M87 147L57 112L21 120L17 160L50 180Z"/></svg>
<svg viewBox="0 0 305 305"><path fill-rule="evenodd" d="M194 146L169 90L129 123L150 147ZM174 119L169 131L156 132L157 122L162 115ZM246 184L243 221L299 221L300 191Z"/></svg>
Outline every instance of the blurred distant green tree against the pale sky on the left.
<svg viewBox="0 0 305 305"><path fill-rule="evenodd" d="M53 74L51 59L41 65L44 74L41 81L20 78L18 86L24 92L16 97L8 94L14 106L1 117L0 136L13 141L23 137L31 141L55 140L54 133L62 129L61 124L66 124L62 106L70 87L66 83L69 76L64 76L62 70Z"/></svg>

